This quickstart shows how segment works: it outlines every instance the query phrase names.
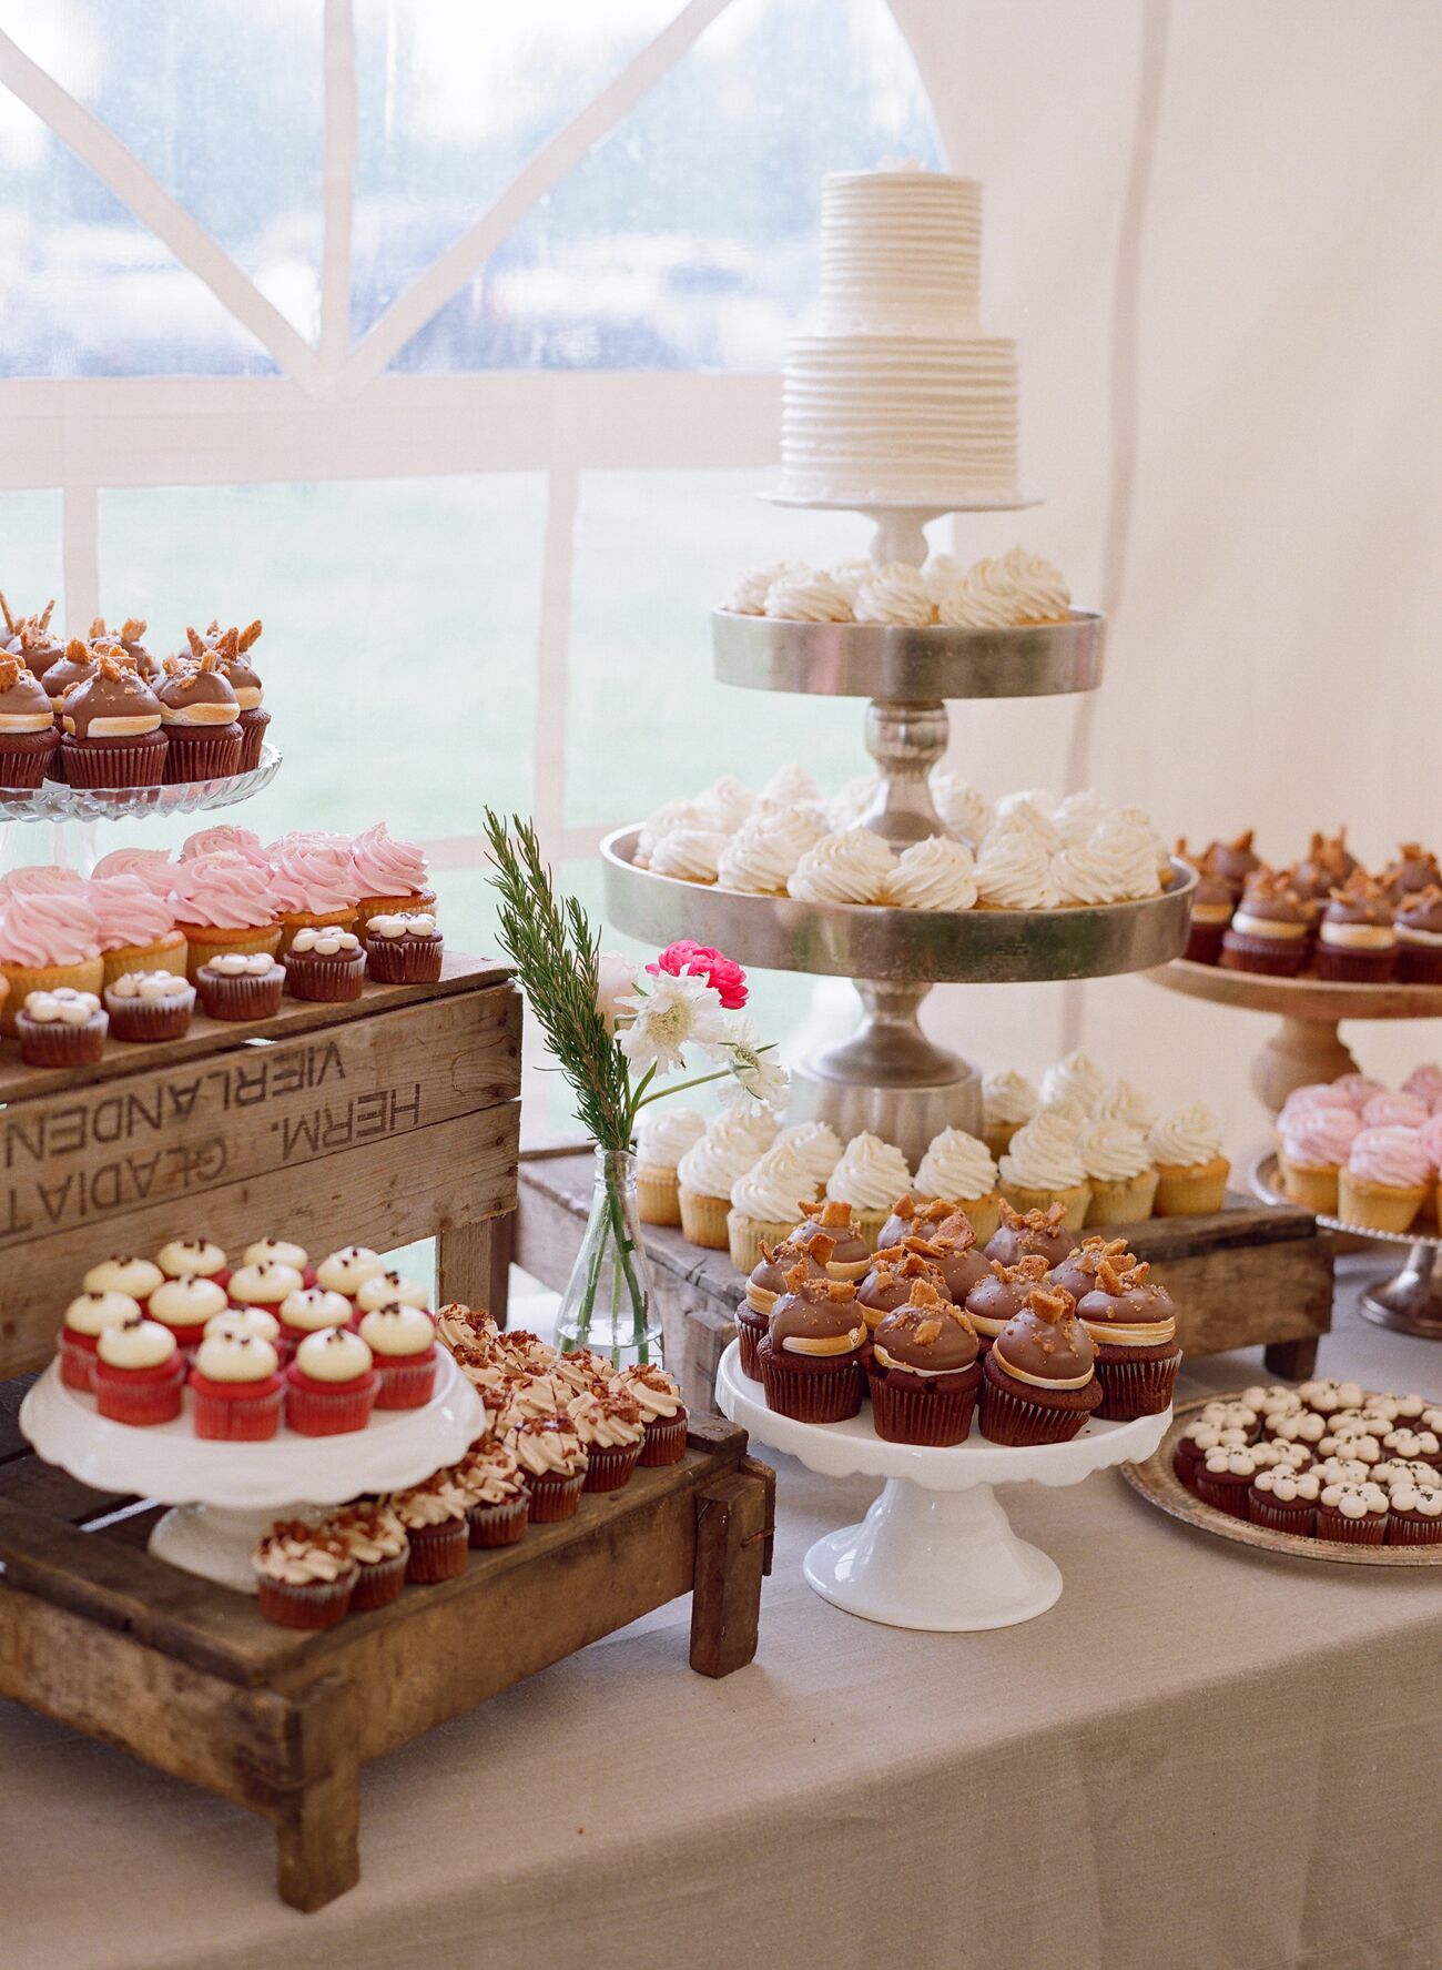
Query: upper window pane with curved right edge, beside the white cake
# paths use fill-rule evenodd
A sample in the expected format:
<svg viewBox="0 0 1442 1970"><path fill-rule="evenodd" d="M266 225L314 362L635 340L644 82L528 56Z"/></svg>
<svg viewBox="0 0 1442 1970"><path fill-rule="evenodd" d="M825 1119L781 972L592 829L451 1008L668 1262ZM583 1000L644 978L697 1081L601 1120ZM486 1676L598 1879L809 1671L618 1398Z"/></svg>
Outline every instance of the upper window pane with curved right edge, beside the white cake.
<svg viewBox="0 0 1442 1970"><path fill-rule="evenodd" d="M546 128L520 104L524 156ZM888 156L942 162L885 0L735 0L394 366L778 368L823 173Z"/></svg>

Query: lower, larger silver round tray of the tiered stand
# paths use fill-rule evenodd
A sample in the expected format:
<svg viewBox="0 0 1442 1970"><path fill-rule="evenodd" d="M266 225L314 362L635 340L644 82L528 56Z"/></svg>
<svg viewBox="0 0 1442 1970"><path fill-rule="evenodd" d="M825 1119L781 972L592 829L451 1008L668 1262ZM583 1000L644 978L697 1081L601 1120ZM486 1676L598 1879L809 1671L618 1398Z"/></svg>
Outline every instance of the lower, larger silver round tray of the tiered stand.
<svg viewBox="0 0 1442 1970"><path fill-rule="evenodd" d="M636 869L638 827L601 843L605 914L654 944L695 938L762 971L900 985L1015 985L1166 963L1186 944L1196 871L1172 861L1160 896L1066 910L888 910L796 902Z"/></svg>

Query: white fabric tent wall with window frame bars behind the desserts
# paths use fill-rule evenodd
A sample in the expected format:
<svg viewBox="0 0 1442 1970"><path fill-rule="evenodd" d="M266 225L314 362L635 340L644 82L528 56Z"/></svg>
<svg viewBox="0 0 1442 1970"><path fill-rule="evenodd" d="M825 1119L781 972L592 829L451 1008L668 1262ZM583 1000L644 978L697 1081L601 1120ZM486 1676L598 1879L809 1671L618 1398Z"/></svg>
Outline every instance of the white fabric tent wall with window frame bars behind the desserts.
<svg viewBox="0 0 1442 1970"><path fill-rule="evenodd" d="M1020 522L957 524L955 546L989 552L1020 532L1111 617L1107 682L1093 699L957 705L951 764L993 792L1097 784L1192 839L1255 825L1278 859L1300 851L1308 827L1344 820L1365 857L1387 855L1405 835L1438 841L1442 8L892 0L892 14L948 162L987 187L983 313L1020 343L1024 479L1046 500ZM725 16L725 0L676 6L491 205L491 219L479 201L471 252L494 244L502 223L524 221L548 171L571 167ZM6 489L63 491L67 613L83 621L100 599L106 489L536 475L534 648L510 660L534 666L532 796L571 873L603 820L630 818L626 806L601 816L567 802L567 705L587 664L577 623L593 579L587 491L607 475L632 475L636 487L656 475L658 496L670 496L678 473L725 471L735 481L727 500L741 504L774 465L778 382L741 372L376 374L382 343L353 345L341 319L357 20L349 0L327 0L313 347L0 33L0 85L91 158L286 370L0 380L0 500ZM439 264L463 278L465 260L457 248ZM443 274L424 274L420 290L443 301ZM835 522L835 540L853 552L859 536L845 526ZM756 558L766 546L825 552L812 516L754 508L737 528ZM0 540L0 575L4 548ZM719 522L711 548L676 650L697 672L705 611L731 552ZM642 593L644 542L634 579ZM766 743L782 756L806 755L800 707L776 699L762 709ZM823 717L814 707L812 733ZM731 762L743 774L745 737ZM477 768L483 778L483 743ZM682 790L642 786L638 774L621 798L638 808ZM477 814L457 816L433 849L441 867L475 879ZM778 1003L796 1003L780 981L762 981L762 1018L772 985ZM983 1066L1028 1072L1083 1042L1166 1101L1204 1095L1233 1150L1261 1125L1245 1062L1265 1022L1141 981L948 987L928 1024ZM1383 1074L1440 1050L1428 1026L1351 1040Z"/></svg>

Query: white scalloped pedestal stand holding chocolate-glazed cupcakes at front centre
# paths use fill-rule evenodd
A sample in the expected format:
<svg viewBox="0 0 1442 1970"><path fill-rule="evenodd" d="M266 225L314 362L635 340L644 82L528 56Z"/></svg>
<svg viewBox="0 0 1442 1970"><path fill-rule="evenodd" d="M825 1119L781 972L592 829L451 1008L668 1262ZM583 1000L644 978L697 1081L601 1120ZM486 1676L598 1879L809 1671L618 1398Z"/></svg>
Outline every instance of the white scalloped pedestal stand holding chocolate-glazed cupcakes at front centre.
<svg viewBox="0 0 1442 1970"><path fill-rule="evenodd" d="M827 1424L766 1409L760 1385L741 1373L737 1342L721 1355L715 1395L723 1416L823 1478L886 1479L861 1525L818 1539L802 1570L821 1600L847 1613L944 1633L1030 1621L1062 1592L1060 1568L1013 1533L993 1485L1082 1483L1091 1472L1148 1458L1172 1420L1168 1409L1135 1422L1087 1422L1070 1444L1028 1450L991 1444L975 1426L950 1450L886 1444L865 1409Z"/></svg>

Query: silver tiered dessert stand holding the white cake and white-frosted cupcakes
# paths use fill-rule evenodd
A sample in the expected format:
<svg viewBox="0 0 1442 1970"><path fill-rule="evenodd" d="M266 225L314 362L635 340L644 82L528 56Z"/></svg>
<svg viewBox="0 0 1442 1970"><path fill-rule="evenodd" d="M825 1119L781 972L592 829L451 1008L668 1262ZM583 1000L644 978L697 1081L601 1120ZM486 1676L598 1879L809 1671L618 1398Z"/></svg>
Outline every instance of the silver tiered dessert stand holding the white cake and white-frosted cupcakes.
<svg viewBox="0 0 1442 1970"><path fill-rule="evenodd" d="M835 506L835 500L784 500ZM877 520L877 563L926 554L928 520L957 510L1011 510L1026 500L857 502ZM790 623L715 611L711 644L723 684L753 691L865 697L867 751L881 786L863 816L894 849L946 827L928 776L948 745L948 699L1050 697L1101 682L1105 621L1072 611L1024 628L892 628ZM926 1036L932 985L1016 985L1147 971L1180 955L1196 875L1170 865L1166 888L1143 902L1062 910L890 910L749 896L652 875L634 863L638 827L601 843L605 910L646 942L695 938L747 965L849 977L863 1003L855 1034L792 1070L792 1119L819 1117L847 1139L861 1129L896 1143L912 1166L946 1127L981 1133L981 1078Z"/></svg>

